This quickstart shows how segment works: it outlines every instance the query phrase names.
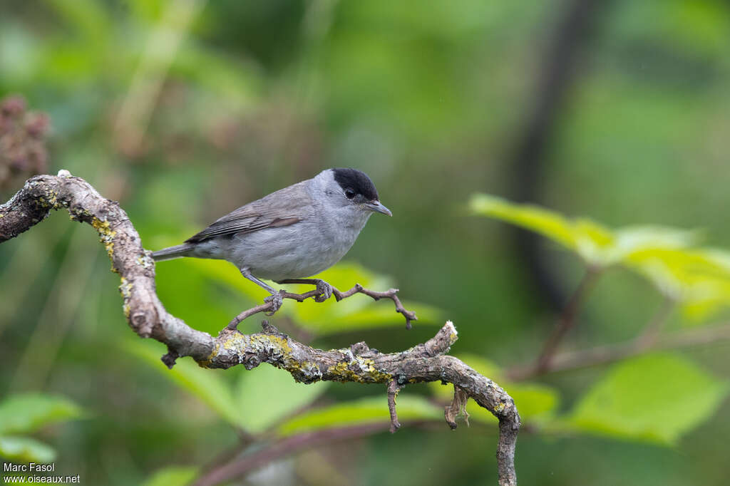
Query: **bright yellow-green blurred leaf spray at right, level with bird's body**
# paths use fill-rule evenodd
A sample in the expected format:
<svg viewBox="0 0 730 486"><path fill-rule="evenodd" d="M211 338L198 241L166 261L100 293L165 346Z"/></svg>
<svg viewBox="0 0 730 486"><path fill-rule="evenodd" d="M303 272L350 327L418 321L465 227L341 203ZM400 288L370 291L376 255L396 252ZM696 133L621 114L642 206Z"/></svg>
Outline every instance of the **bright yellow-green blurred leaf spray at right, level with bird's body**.
<svg viewBox="0 0 730 486"><path fill-rule="evenodd" d="M472 196L469 207L552 239L576 252L592 271L612 265L637 271L667 298L680 301L694 320L730 306L730 252L694 247L696 232L648 225L610 230L588 218L568 220L486 194Z"/></svg>

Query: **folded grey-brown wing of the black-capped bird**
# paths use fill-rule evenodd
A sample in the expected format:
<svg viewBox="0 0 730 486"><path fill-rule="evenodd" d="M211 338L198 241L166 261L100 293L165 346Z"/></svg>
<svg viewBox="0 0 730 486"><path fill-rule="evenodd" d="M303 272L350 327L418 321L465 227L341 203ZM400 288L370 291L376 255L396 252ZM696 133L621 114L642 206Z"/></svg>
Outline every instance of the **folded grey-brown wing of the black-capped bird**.
<svg viewBox="0 0 730 486"><path fill-rule="evenodd" d="M293 225L310 215L313 209L310 193L304 183L299 182L229 212L185 242L197 243L214 236Z"/></svg>

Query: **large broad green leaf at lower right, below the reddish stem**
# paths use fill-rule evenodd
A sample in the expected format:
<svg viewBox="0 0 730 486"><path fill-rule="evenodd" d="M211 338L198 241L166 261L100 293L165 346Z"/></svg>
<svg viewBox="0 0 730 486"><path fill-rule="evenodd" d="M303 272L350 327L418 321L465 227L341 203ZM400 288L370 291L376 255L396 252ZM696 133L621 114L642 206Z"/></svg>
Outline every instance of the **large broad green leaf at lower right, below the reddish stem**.
<svg viewBox="0 0 730 486"><path fill-rule="evenodd" d="M685 358L643 356L614 366L567 418L581 431L673 444L707 420L727 391Z"/></svg>

